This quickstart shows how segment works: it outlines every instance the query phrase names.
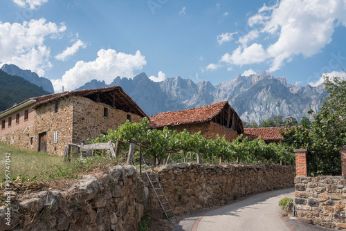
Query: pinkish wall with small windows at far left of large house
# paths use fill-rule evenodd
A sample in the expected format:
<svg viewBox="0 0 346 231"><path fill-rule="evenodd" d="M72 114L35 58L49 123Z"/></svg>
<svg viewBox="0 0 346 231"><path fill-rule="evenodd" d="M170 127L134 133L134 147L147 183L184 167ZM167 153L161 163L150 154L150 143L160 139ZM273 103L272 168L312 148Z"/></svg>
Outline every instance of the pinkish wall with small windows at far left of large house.
<svg viewBox="0 0 346 231"><path fill-rule="evenodd" d="M33 130L36 113L30 107L25 107L0 119L0 121L6 121L5 129L0 130L0 142L23 149L37 150L37 145L35 145L36 136ZM24 120L24 111L26 110L28 110L28 120ZM19 123L16 123L17 113L19 113ZM8 126L8 118L11 118L12 121L10 127ZM31 137L34 139L33 145L30 144Z"/></svg>

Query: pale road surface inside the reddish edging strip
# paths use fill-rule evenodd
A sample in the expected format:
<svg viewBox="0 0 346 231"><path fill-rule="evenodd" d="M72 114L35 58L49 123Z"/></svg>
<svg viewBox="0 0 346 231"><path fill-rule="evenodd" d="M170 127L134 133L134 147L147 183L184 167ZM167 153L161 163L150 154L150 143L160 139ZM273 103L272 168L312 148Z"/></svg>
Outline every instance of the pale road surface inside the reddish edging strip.
<svg viewBox="0 0 346 231"><path fill-rule="evenodd" d="M243 201L219 207L203 215L197 230L289 231L280 216L284 211L278 206L285 196L293 198L294 189L256 194Z"/></svg>

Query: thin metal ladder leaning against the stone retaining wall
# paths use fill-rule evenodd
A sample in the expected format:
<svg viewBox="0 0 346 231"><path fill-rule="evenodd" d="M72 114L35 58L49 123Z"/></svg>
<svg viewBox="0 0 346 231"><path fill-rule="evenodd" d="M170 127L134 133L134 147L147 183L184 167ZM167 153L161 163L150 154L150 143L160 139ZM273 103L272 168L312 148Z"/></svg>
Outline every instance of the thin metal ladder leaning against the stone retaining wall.
<svg viewBox="0 0 346 231"><path fill-rule="evenodd" d="M152 173L148 173L147 169L152 169ZM165 212L165 215L167 216L168 221L170 221L171 225L172 225L171 219L175 219L176 223L178 223L178 220L176 219L176 216L172 210L172 207L167 200L165 192L163 192L161 184L158 181L157 175L154 172L154 167L145 167L144 170L145 170L145 174L147 174L147 177L149 178L149 182L152 185L152 188L156 194L156 197L158 198L158 202L160 202L160 205L163 209L163 212ZM152 176L152 178L150 178L150 176ZM158 190L158 192L156 190ZM160 190L161 190L162 194L160 193ZM165 206L166 206L166 208L165 208ZM172 212L172 214L170 212Z"/></svg>

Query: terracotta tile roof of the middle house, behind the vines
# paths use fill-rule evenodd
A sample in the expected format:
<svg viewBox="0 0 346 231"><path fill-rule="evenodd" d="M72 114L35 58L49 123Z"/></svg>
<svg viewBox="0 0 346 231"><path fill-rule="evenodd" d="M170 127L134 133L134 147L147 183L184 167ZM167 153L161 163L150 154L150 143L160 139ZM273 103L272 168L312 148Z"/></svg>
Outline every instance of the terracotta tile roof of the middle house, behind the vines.
<svg viewBox="0 0 346 231"><path fill-rule="evenodd" d="M193 109L185 109L182 111L168 111L163 113L158 113L156 115L153 115L150 118L150 127L151 128L161 128L165 126L176 126L180 124L193 124L198 122L207 122L211 121L215 118L215 116L219 115L221 111L228 105L227 101L223 102L217 102L215 104L210 104L206 107L197 107ZM241 124L241 129L243 129L242 126L242 120L240 120L237 113L234 111L234 109L231 108L231 111L235 113L235 118L237 118L238 126Z"/></svg>

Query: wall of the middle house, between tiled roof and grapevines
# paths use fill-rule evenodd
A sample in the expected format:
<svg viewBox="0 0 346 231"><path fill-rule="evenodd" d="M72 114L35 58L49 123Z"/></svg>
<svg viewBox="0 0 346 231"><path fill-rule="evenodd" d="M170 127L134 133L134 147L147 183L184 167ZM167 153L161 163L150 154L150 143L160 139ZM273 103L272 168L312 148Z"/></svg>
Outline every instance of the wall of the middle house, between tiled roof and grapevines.
<svg viewBox="0 0 346 231"><path fill-rule="evenodd" d="M201 131L201 135L207 139L215 139L217 138L217 134L222 138L225 136L228 142L237 138L237 131L233 131L232 129L227 129L221 124L217 124L215 122L200 122L197 124L182 124L177 126L170 126L170 129L174 129L176 131L183 131L184 129L188 130L190 133L194 134L197 131Z"/></svg>

